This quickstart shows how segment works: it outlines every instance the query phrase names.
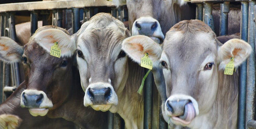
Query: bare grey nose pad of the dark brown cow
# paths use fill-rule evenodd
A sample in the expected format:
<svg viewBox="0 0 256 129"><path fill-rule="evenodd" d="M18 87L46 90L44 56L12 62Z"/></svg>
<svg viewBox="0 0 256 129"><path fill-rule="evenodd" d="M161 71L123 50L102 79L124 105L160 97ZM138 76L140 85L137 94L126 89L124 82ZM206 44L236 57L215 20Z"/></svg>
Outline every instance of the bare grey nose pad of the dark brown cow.
<svg viewBox="0 0 256 129"><path fill-rule="evenodd" d="M42 103L44 99L44 95L43 94L26 94L25 92L22 94L22 100L24 102L25 107L27 108L38 108L40 106L40 104Z"/></svg>

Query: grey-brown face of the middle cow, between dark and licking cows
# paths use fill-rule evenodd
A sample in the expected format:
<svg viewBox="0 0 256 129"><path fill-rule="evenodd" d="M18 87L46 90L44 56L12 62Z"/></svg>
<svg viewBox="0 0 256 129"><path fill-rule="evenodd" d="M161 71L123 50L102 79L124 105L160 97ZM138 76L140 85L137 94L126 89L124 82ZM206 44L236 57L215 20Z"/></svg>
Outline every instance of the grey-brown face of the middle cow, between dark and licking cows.
<svg viewBox="0 0 256 129"><path fill-rule="evenodd" d="M110 14L99 13L85 22L77 34L77 64L85 91L84 106L107 111L118 104L128 77L121 42L129 32Z"/></svg>

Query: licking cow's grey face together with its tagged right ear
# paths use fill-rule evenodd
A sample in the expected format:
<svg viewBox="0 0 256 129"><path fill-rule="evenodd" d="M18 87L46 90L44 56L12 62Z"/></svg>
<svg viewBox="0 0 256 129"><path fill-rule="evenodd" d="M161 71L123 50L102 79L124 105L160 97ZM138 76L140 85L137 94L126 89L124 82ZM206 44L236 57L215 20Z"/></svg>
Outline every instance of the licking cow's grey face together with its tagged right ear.
<svg viewBox="0 0 256 129"><path fill-rule="evenodd" d="M166 33L161 57L169 97L162 107L166 122L199 126L216 101L219 76L230 58L238 66L252 51L238 39L221 45L209 26L199 20L181 21Z"/></svg>

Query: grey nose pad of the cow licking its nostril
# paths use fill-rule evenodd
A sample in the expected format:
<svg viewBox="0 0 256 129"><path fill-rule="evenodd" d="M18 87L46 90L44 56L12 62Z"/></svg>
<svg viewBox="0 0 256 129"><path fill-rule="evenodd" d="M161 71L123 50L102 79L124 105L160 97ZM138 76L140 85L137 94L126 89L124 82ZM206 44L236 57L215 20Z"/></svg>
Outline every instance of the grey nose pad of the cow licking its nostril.
<svg viewBox="0 0 256 129"><path fill-rule="evenodd" d="M190 103L191 100L186 99L186 100L174 100L170 101L167 100L166 106L167 110L172 112L173 116L183 116L184 111L185 111L185 105Z"/></svg>

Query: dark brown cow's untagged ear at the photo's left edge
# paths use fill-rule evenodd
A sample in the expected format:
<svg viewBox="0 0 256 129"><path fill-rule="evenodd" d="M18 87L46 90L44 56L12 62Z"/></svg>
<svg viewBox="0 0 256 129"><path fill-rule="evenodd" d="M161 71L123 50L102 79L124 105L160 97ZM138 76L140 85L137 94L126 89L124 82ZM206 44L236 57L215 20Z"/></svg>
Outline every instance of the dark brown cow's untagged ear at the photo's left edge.
<svg viewBox="0 0 256 129"><path fill-rule="evenodd" d="M23 46L9 37L0 37L0 60L6 63L19 62L23 54Z"/></svg>

